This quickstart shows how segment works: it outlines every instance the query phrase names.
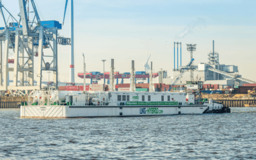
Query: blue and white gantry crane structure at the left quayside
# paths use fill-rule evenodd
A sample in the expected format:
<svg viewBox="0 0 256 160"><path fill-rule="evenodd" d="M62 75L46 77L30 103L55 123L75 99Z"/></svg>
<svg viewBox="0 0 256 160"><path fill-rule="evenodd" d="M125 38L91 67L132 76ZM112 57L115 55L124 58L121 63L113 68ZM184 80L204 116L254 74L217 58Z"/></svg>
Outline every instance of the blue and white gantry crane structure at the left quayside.
<svg viewBox="0 0 256 160"><path fill-rule="evenodd" d="M58 44L70 45L70 38L58 36L58 30L62 28L56 20L41 21L34 0L31 0L32 10L27 10L28 1L19 0L19 20L4 8L0 1L0 12L5 26L0 28L0 90L43 90L42 72L53 72L53 87L58 88ZM12 22L6 20L12 17ZM29 15L34 15L29 20ZM22 25L21 25L22 24ZM4 52L3 52L4 42ZM51 53L44 55L44 50L49 49ZM10 58L14 52L14 58ZM4 60L3 60L4 54ZM38 57L35 63L35 57ZM13 64L13 67L11 67ZM35 64L38 65L37 72ZM9 73L13 72L13 86L8 85ZM25 73L28 73L28 86L24 84ZM34 85L34 76L37 84ZM18 86L18 81L20 81Z"/></svg>

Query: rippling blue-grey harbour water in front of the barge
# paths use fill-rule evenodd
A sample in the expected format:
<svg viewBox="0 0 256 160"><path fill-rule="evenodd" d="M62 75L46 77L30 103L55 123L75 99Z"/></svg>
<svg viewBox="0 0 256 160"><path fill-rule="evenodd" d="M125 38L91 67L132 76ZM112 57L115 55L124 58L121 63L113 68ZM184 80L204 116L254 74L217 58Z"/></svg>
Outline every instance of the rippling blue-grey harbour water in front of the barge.
<svg viewBox="0 0 256 160"><path fill-rule="evenodd" d="M0 109L0 159L256 159L256 108L231 111L22 119Z"/></svg>

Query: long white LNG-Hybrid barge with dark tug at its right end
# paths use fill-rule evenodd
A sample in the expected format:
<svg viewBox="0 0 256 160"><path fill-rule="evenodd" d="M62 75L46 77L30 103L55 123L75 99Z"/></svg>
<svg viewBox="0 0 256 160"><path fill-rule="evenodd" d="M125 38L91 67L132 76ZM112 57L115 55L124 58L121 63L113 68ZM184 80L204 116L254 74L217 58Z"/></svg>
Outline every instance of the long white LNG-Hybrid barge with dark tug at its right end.
<svg viewBox="0 0 256 160"><path fill-rule="evenodd" d="M105 116L163 116L230 113L213 100L186 92L37 91L20 106L22 118L79 118Z"/></svg>

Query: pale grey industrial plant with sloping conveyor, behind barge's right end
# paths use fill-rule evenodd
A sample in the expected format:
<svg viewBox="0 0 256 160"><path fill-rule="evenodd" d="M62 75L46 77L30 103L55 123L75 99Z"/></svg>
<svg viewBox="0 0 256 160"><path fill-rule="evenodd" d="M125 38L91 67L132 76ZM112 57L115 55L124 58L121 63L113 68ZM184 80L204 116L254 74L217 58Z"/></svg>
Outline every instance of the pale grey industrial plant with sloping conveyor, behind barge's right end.
<svg viewBox="0 0 256 160"><path fill-rule="evenodd" d="M193 54L191 54L191 61L193 61ZM212 41L212 52L208 54L207 63L200 63L198 65L192 64L189 67L188 65L177 66L177 68L173 68L173 77L166 79L164 83L173 84L173 82L179 79L175 83L180 84L181 81L181 83L184 84L186 81L191 81L191 78L204 81L204 84L220 84L222 86L232 87L243 85L243 83L255 83L249 79L242 78L238 71L236 65L220 64L219 54L214 51L214 41ZM181 74L182 76L180 76Z"/></svg>

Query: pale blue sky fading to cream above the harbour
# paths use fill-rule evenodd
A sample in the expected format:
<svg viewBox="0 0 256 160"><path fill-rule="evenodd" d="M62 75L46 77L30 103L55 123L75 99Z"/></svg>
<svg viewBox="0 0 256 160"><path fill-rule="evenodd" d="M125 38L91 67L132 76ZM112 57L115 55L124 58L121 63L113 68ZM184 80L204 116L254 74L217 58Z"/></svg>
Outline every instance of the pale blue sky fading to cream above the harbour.
<svg viewBox="0 0 256 160"><path fill-rule="evenodd" d="M2 3L17 17L17 0ZM63 22L65 0L35 3L41 20ZM107 60L105 71L109 71L111 58L115 59L116 71L130 72L131 60L135 61L136 71L143 71L143 63L151 54L154 71L163 68L173 76L173 42L182 43L182 65L186 65L190 60L186 44L197 44L195 64L207 63L212 40L221 64L237 65L239 74L256 81L255 7L256 1L252 0L74 0L76 82L83 82L77 77L78 72L83 72L83 53L88 72L103 72L101 60ZM69 20L70 1L60 35L70 37ZM4 26L3 19L0 24ZM59 45L61 81L69 81L69 52L69 46ZM47 73L43 76L48 79Z"/></svg>

